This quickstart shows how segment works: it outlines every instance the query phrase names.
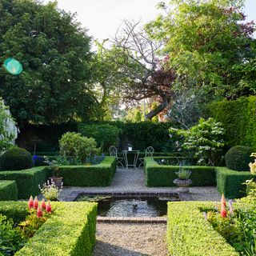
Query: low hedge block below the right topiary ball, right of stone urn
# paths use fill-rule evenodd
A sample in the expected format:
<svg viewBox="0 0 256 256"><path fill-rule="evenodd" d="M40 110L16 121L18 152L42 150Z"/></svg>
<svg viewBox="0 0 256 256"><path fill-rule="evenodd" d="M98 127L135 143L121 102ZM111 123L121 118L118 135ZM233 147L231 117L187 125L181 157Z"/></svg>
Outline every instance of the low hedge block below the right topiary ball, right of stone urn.
<svg viewBox="0 0 256 256"><path fill-rule="evenodd" d="M216 167L218 192L226 198L242 198L246 195L246 186L242 183L254 178L250 171L230 170L226 167Z"/></svg>

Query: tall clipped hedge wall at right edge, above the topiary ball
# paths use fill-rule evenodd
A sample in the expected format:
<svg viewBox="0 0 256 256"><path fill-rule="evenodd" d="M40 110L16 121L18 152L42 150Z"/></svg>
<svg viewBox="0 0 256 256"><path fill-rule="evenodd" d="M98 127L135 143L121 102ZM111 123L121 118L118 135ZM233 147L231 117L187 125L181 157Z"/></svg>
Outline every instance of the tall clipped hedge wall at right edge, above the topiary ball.
<svg viewBox="0 0 256 256"><path fill-rule="evenodd" d="M229 146L251 146L256 150L256 96L213 102L208 112L222 122Z"/></svg>

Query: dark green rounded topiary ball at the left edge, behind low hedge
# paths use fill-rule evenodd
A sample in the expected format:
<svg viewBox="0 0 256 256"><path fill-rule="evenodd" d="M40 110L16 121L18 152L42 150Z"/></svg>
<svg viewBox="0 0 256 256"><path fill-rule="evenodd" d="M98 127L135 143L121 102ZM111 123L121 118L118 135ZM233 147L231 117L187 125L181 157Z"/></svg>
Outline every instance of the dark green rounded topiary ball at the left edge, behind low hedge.
<svg viewBox="0 0 256 256"><path fill-rule="evenodd" d="M20 147L6 151L0 160L1 170L26 170L33 166L32 155Z"/></svg>

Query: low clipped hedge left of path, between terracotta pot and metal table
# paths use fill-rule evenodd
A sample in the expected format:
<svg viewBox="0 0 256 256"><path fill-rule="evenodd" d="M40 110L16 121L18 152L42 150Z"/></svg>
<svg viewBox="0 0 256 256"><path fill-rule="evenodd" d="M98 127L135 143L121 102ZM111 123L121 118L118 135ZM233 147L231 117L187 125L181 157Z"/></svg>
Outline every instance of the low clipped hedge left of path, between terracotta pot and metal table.
<svg viewBox="0 0 256 256"><path fill-rule="evenodd" d="M115 171L114 157L106 157L95 166L60 166L65 186L110 186Z"/></svg>

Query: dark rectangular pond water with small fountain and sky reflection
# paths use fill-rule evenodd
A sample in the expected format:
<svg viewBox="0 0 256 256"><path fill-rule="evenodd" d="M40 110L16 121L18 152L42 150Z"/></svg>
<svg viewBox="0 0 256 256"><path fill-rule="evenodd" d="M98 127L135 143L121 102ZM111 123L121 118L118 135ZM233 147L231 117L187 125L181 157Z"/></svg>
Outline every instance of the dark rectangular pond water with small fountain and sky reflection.
<svg viewBox="0 0 256 256"><path fill-rule="evenodd" d="M94 201L82 197L78 201ZM179 198L98 198L98 215L102 217L158 217L167 214L167 202L180 201Z"/></svg>

